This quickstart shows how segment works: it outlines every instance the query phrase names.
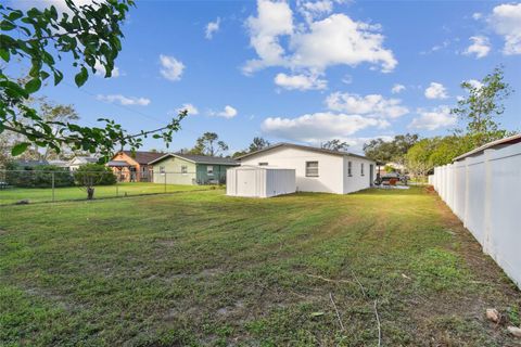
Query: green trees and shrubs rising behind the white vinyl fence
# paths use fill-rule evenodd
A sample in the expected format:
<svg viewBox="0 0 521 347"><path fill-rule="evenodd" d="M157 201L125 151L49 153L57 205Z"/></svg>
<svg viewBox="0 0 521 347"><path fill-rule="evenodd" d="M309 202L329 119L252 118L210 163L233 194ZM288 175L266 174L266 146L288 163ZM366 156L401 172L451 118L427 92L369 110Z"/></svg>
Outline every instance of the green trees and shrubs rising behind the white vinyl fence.
<svg viewBox="0 0 521 347"><path fill-rule="evenodd" d="M416 177L424 178L434 167L449 164L457 156L491 141L512 136L498 120L505 112L504 101L513 92L505 81L503 66L496 67L479 83L465 81L461 98L450 114L458 126L444 137L421 139L418 134L399 134L391 141L371 140L364 145L366 156L379 163L403 165Z"/></svg>

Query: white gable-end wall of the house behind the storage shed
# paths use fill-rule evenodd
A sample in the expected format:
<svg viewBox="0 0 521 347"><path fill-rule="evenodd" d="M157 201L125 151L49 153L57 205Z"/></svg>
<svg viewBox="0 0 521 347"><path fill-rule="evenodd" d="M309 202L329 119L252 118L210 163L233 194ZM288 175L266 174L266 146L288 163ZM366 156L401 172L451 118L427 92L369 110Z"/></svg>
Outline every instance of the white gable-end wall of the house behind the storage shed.
<svg viewBox="0 0 521 347"><path fill-rule="evenodd" d="M318 162L319 177L306 177L306 162ZM241 165L258 163L295 169L297 191L344 193L343 156L282 146L241 159Z"/></svg>

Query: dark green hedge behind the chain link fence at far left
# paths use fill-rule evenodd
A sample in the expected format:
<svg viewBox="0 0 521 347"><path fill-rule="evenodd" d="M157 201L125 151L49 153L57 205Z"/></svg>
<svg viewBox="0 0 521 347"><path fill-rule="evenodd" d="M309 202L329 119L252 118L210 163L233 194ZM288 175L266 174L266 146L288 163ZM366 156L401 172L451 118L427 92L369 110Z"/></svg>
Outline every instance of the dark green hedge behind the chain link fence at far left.
<svg viewBox="0 0 521 347"><path fill-rule="evenodd" d="M51 188L52 174L54 174L54 187L73 187L74 178L68 169L54 165L38 165L22 167L16 163L5 166L8 184L20 188ZM15 170L15 171L9 171Z"/></svg>

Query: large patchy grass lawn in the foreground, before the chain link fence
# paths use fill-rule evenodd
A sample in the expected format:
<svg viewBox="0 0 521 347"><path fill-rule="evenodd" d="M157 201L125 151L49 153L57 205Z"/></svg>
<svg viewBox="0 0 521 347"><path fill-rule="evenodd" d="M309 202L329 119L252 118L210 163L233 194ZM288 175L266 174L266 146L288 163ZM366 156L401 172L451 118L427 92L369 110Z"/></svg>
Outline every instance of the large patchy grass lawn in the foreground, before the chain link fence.
<svg viewBox="0 0 521 347"><path fill-rule="evenodd" d="M484 312L520 292L424 188L0 208L0 345L376 346L374 304L382 346L516 345Z"/></svg>

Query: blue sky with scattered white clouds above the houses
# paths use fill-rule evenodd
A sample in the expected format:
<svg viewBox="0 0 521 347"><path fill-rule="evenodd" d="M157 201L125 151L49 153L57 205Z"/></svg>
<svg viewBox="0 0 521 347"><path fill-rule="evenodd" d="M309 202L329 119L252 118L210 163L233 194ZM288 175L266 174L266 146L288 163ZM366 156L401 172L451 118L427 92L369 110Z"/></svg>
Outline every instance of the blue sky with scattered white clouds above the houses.
<svg viewBox="0 0 521 347"><path fill-rule="evenodd" d="M130 132L188 108L168 151L205 131L230 154L254 137L341 139L360 153L374 138L449 134L460 83L500 64L514 93L498 120L521 130L521 2L138 0L123 31L112 78L77 88L63 66L64 82L40 94L74 104L84 125L109 117ZM148 139L151 149L166 146Z"/></svg>

